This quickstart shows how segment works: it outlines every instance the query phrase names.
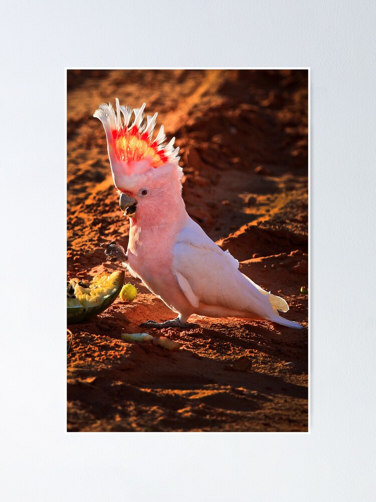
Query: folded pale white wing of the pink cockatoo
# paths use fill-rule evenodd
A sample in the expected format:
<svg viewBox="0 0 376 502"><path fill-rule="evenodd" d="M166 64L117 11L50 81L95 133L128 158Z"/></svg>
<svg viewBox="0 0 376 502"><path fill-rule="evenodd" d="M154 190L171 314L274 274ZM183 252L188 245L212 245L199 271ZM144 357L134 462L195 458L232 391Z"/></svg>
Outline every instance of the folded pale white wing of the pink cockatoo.
<svg viewBox="0 0 376 502"><path fill-rule="evenodd" d="M180 232L173 248L173 272L180 289L195 307L199 301L233 310L271 315L268 292L244 276L239 262L224 252L193 220Z"/></svg>

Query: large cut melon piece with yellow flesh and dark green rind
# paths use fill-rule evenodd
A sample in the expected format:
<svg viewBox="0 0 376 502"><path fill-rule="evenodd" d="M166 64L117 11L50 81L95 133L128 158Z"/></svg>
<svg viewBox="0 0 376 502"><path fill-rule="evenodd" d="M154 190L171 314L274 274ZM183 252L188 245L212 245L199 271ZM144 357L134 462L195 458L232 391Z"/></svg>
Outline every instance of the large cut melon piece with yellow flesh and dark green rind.
<svg viewBox="0 0 376 502"><path fill-rule="evenodd" d="M124 283L124 271L100 274L92 281L83 281L87 288L80 286L79 279L71 279L67 291L73 287L76 298L67 297L67 322L85 322L106 310L118 297ZM72 290L71 290L72 291Z"/></svg>

